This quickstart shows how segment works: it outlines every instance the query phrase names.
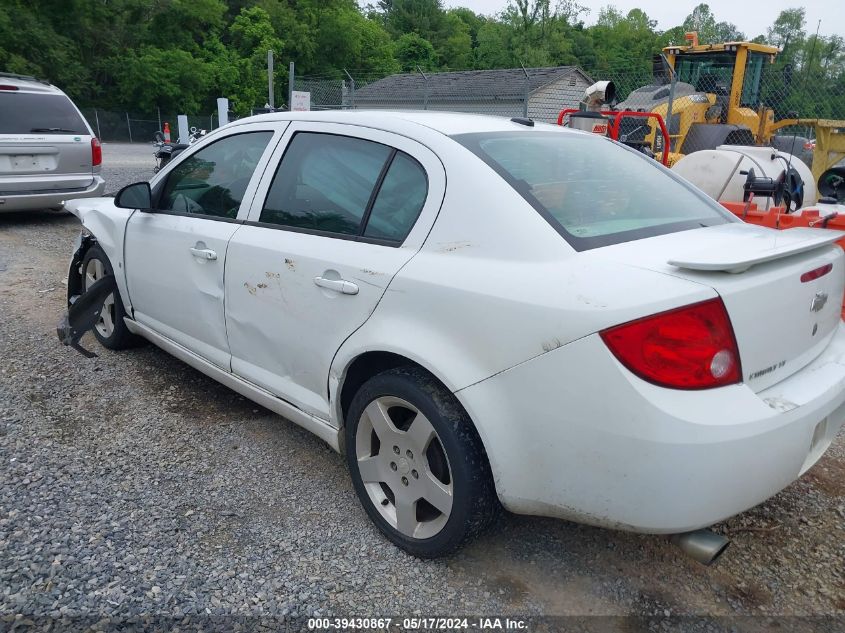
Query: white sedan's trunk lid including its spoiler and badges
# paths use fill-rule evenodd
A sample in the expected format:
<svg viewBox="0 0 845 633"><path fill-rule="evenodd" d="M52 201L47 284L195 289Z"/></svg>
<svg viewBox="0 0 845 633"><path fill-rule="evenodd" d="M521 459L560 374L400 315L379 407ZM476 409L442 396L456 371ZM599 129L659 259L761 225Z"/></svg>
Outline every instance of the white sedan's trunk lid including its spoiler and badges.
<svg viewBox="0 0 845 633"><path fill-rule="evenodd" d="M845 258L830 244L841 238L823 229L731 223L604 250L620 263L713 288L736 334L743 380L761 391L809 364L834 335Z"/></svg>

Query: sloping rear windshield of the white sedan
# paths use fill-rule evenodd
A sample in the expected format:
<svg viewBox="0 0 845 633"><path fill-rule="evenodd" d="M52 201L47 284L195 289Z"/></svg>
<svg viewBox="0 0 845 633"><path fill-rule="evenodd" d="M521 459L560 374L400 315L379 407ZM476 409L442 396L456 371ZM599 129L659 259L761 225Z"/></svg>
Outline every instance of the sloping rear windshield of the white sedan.
<svg viewBox="0 0 845 633"><path fill-rule="evenodd" d="M559 132L459 134L578 251L734 221L657 161Z"/></svg>

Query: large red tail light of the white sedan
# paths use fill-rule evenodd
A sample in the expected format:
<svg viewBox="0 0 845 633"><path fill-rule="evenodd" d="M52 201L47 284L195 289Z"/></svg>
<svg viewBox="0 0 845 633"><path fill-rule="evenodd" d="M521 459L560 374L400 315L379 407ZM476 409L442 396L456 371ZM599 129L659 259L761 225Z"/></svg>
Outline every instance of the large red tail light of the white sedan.
<svg viewBox="0 0 845 633"><path fill-rule="evenodd" d="M637 319L601 332L625 367L673 389L710 389L742 379L739 350L721 299Z"/></svg>

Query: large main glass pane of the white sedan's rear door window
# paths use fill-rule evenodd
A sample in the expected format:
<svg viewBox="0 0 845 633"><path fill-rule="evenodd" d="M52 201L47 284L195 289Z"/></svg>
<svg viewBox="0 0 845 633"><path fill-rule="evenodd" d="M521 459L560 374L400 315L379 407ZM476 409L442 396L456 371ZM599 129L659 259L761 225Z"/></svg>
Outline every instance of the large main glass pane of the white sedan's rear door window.
<svg viewBox="0 0 845 633"><path fill-rule="evenodd" d="M259 221L359 235L392 153L386 145L364 139L296 134L279 163Z"/></svg>

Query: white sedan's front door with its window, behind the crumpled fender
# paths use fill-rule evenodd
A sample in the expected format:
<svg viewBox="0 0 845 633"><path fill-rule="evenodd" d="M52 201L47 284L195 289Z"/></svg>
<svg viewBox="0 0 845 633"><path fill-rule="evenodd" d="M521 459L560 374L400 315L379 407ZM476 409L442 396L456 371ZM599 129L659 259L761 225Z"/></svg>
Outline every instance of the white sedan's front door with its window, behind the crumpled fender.
<svg viewBox="0 0 845 633"><path fill-rule="evenodd" d="M226 248L280 135L277 124L249 124L208 139L154 183L155 209L134 213L126 228L135 320L226 370Z"/></svg>

